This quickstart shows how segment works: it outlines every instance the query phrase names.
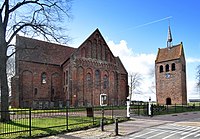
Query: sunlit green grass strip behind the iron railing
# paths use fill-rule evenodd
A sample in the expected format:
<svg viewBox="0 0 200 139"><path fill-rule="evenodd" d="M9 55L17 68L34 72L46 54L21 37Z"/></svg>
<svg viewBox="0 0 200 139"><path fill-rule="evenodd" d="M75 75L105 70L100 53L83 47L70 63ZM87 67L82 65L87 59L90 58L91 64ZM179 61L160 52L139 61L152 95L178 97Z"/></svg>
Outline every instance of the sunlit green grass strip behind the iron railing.
<svg viewBox="0 0 200 139"><path fill-rule="evenodd" d="M33 118L31 121L31 136L39 137L46 135L53 135L62 132L69 132L85 128L91 128L100 125L101 117L95 117L94 124L92 117L69 117L68 131L66 130L66 117L53 117L53 118ZM120 118L119 121L124 121ZM106 117L106 124L113 123L111 117ZM0 138L30 138L29 137L29 121L28 119L9 121L8 123L0 123L0 134L3 132L17 132L27 131L21 133L12 133L8 135L0 135Z"/></svg>

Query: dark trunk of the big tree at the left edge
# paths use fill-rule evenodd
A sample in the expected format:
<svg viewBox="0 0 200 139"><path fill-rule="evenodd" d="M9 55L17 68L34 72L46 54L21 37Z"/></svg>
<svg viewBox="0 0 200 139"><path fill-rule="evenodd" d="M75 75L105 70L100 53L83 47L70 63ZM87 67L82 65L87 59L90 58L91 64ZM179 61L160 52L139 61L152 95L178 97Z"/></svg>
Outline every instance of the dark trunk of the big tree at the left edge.
<svg viewBox="0 0 200 139"><path fill-rule="evenodd" d="M0 45L0 47L4 47ZM0 82L1 82L1 121L6 122L10 120L9 109L9 91L8 80L6 73L6 52L1 49L0 51Z"/></svg>

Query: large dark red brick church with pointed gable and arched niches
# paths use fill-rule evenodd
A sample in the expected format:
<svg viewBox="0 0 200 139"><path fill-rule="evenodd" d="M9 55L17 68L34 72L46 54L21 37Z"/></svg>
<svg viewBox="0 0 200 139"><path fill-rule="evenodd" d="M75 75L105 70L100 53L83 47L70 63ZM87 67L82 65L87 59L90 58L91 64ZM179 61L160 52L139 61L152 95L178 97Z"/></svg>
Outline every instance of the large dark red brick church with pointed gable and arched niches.
<svg viewBox="0 0 200 139"><path fill-rule="evenodd" d="M78 48L16 36L12 107L122 105L128 73L96 29Z"/></svg>

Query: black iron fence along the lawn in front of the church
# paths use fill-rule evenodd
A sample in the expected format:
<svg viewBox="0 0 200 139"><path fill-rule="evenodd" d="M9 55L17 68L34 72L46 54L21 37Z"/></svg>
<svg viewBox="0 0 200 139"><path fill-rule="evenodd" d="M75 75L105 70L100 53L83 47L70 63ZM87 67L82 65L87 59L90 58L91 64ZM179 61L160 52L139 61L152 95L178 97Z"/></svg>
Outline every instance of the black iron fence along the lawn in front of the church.
<svg viewBox="0 0 200 139"><path fill-rule="evenodd" d="M0 111L0 113L5 111ZM0 138L44 136L114 122L126 117L125 106L81 107L52 110L9 110L10 121L0 122ZM103 117L102 117L103 116Z"/></svg>

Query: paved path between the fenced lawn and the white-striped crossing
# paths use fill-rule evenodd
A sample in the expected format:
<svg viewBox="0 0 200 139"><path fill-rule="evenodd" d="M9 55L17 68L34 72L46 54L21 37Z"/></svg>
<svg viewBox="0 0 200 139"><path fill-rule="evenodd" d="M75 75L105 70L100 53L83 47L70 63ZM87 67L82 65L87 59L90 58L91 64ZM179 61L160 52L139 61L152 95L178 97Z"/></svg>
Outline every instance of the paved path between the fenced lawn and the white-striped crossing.
<svg viewBox="0 0 200 139"><path fill-rule="evenodd" d="M103 139L103 138L128 138L134 133L141 132L148 128L157 126L176 124L177 126L200 127L200 112L187 112L180 114L160 115L154 117L133 117L131 120L119 123L119 135L115 136L115 125L107 125L102 132L100 128L76 131L56 136L45 137L43 139Z"/></svg>

